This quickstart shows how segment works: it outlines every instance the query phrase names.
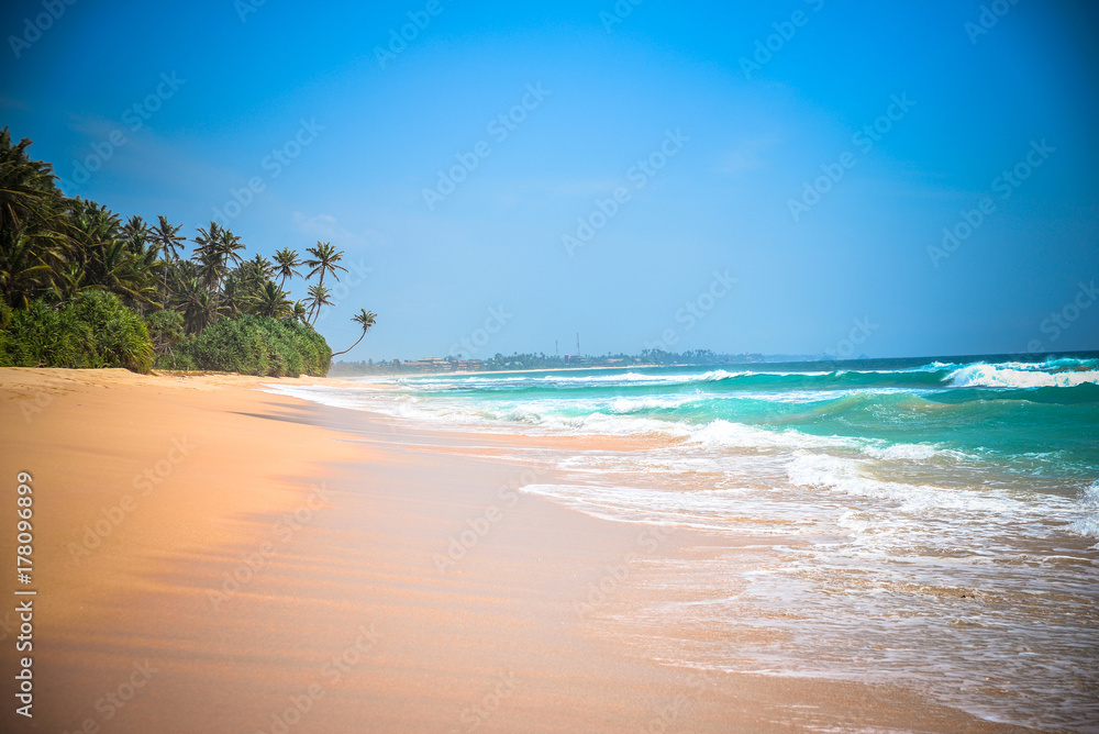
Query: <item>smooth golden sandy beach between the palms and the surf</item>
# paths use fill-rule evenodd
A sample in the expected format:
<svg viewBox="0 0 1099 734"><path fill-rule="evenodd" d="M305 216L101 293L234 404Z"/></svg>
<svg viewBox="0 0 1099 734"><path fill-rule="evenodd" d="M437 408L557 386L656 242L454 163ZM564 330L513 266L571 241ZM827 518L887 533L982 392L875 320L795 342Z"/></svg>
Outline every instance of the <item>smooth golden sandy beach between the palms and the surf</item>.
<svg viewBox="0 0 1099 734"><path fill-rule="evenodd" d="M646 559L750 538L517 491L552 471L550 440L440 434L270 381L0 370L5 557L21 471L34 535L33 581L4 580L4 731L1014 731L888 681L663 664L653 641L718 633L630 621L689 592ZM24 656L33 719L12 703Z"/></svg>

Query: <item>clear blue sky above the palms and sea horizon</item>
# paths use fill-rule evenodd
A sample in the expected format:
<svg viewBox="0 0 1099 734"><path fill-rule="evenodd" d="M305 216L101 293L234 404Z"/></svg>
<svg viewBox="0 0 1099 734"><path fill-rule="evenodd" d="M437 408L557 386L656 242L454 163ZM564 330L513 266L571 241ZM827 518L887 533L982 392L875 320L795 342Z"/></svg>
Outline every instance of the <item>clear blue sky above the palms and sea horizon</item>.
<svg viewBox="0 0 1099 734"><path fill-rule="evenodd" d="M318 329L378 319L341 359L1099 348L1099 3L16 0L0 30L2 123L66 194L345 251Z"/></svg>

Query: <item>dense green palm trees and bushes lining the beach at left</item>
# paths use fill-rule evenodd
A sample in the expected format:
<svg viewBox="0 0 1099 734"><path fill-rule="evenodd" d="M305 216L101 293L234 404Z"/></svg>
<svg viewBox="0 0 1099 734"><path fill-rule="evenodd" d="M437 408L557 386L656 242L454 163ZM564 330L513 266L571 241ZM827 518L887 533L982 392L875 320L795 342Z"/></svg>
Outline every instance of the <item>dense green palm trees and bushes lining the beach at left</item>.
<svg viewBox="0 0 1099 734"><path fill-rule="evenodd" d="M182 258L180 225L163 215L155 225L123 223L101 204L66 198L30 145L0 131L0 366L328 371L332 349L312 324L331 304L325 275L346 271L331 243L307 248L303 262L291 248L274 263L245 259L241 238L210 222ZM307 282L320 277L295 302L285 287L302 267ZM354 316L364 336L376 315Z"/></svg>

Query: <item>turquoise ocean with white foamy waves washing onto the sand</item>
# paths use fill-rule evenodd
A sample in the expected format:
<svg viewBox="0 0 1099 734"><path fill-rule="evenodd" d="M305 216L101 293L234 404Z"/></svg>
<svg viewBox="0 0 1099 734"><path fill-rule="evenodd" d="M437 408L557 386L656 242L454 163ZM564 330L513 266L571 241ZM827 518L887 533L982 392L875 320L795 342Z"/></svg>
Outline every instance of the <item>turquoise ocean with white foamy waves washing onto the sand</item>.
<svg viewBox="0 0 1099 734"><path fill-rule="evenodd" d="M367 380L385 389L271 389L456 431L643 437L557 451L567 481L522 491L757 536L777 563L679 568L697 593L645 612L729 629L670 663L1099 731L1099 353Z"/></svg>

